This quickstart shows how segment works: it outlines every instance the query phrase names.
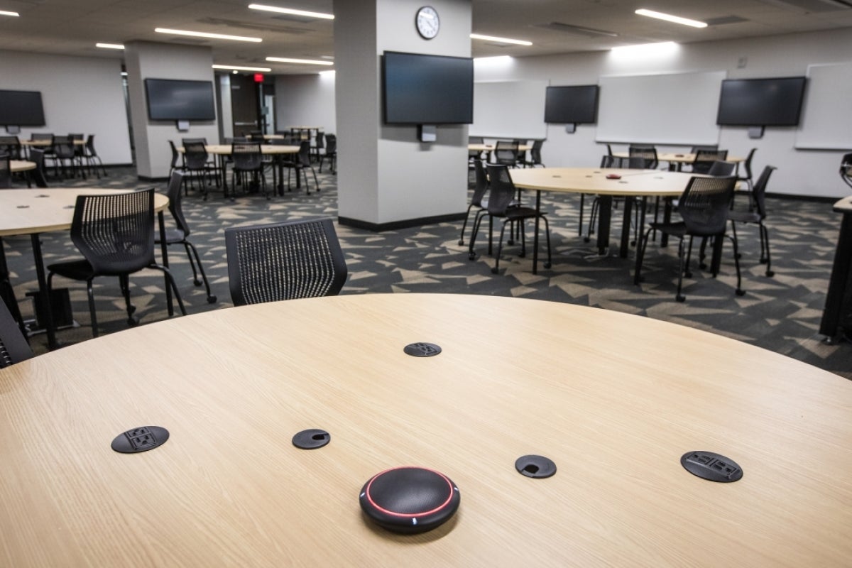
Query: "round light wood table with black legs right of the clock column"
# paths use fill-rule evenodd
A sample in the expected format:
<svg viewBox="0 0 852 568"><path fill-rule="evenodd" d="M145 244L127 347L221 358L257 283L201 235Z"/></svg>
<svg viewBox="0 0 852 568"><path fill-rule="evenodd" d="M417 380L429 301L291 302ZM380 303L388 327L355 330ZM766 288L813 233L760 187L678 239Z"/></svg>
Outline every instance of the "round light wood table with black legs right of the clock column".
<svg viewBox="0 0 852 568"><path fill-rule="evenodd" d="M597 249L603 255L609 247L609 227L612 219L613 196L641 198L678 197L686 188L692 174L660 169L619 168L524 168L511 169L509 175L515 186L536 192L536 209L541 210L541 192L584 193L601 197L598 209ZM617 180L607 175L619 175ZM624 222L619 255L627 256L630 247L630 213L632 202L625 199ZM644 207L642 225L644 225ZM666 212L668 215L668 212ZM538 271L538 220L533 248L533 273Z"/></svg>

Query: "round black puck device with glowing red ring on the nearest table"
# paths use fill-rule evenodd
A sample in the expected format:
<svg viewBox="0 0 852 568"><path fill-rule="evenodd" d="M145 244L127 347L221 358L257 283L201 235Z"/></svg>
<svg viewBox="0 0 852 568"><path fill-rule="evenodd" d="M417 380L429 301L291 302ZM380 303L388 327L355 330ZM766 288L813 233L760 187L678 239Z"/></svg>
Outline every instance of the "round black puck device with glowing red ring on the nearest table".
<svg viewBox="0 0 852 568"><path fill-rule="evenodd" d="M414 534L435 529L458 510L461 495L443 473L427 468L392 468L361 488L364 513L388 531Z"/></svg>

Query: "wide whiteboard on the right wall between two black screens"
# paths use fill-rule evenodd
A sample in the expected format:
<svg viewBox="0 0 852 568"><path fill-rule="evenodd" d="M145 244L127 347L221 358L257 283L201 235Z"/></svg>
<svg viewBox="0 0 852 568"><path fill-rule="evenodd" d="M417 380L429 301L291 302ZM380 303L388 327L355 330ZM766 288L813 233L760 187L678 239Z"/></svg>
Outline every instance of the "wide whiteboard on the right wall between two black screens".
<svg viewBox="0 0 852 568"><path fill-rule="evenodd" d="M716 114L727 75L713 71L602 76L596 140L718 144Z"/></svg>

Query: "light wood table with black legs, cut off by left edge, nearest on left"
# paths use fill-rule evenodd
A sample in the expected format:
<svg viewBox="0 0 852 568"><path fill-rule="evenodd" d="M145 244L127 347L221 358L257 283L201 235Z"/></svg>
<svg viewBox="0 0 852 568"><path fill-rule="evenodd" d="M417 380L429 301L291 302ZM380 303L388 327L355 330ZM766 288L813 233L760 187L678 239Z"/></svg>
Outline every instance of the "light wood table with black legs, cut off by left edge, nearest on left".
<svg viewBox="0 0 852 568"><path fill-rule="evenodd" d="M47 301L47 275L44 272L41 238L43 232L67 231L71 228L74 218L74 204L78 195L123 193L129 190L102 189L100 187L35 187L32 189L4 189L0 191L0 237L12 235L30 235L32 256L36 267L36 278L40 301L43 301L42 312L48 321L43 322L50 349L59 347L56 341L55 329L49 302ZM163 211L169 206L169 198L161 193L154 193L154 210L158 213L161 253L163 266L169 266L169 255L165 244L165 226ZM0 250L0 262L5 265L6 259ZM165 280L166 301L169 315L173 313L171 303L171 287ZM0 564L2 565L2 564Z"/></svg>

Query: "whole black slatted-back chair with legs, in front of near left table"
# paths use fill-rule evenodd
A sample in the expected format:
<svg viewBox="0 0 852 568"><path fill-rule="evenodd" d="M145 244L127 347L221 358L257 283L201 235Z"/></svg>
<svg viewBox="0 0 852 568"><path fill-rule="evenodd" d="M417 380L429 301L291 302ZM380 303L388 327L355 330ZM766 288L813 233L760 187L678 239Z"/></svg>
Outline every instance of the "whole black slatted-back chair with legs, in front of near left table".
<svg viewBox="0 0 852 568"><path fill-rule="evenodd" d="M71 224L71 240L83 258L49 265L48 296L56 274L85 282L89 294L92 334L95 337L98 335L98 327L92 280L97 276L118 277L130 325L137 324L138 320L133 317L135 307L130 304L129 275L143 268L157 268L165 273L181 313L186 315L175 279L168 268L154 261L153 189L78 196Z"/></svg>

